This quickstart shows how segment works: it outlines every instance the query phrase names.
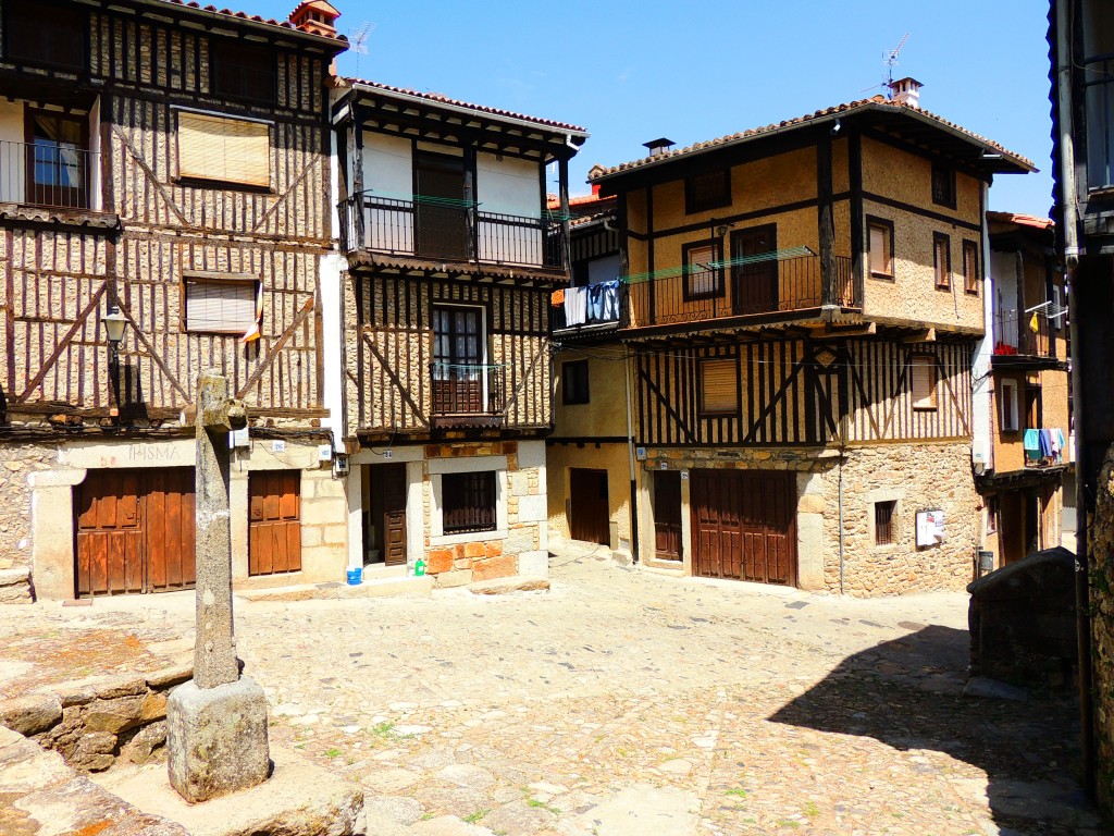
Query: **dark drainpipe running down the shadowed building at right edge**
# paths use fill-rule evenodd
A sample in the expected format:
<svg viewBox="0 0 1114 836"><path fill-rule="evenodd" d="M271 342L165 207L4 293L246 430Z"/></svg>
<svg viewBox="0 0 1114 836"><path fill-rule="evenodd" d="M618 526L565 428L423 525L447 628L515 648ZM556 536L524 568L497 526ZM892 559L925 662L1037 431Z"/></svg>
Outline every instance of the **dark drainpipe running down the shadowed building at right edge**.
<svg viewBox="0 0 1114 836"><path fill-rule="evenodd" d="M1075 505L1076 505L1076 564L1075 564L1075 629L1079 645L1079 727L1083 745L1083 788L1094 799L1097 789L1095 764L1095 726L1092 690L1094 672L1091 667L1091 561L1087 548L1087 488L1083 476L1087 473L1087 444L1079 350L1079 311L1075 288L1079 265L1078 189L1075 182L1075 144L1072 119L1072 19L1068 0L1056 3L1056 109L1059 121L1059 183L1064 233L1064 281L1068 288L1068 332L1072 336L1072 414L1075 418Z"/></svg>

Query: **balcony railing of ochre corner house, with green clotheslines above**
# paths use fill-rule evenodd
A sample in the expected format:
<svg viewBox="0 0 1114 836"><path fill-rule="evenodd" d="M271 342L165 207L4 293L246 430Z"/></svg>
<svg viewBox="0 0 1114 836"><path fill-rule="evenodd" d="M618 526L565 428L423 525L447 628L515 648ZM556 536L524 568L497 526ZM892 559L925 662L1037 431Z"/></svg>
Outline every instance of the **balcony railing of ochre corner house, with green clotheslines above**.
<svg viewBox="0 0 1114 836"><path fill-rule="evenodd" d="M834 263L834 302L853 308L851 260L837 256ZM803 311L823 304L819 255L712 262L675 273L629 282L628 328Z"/></svg>

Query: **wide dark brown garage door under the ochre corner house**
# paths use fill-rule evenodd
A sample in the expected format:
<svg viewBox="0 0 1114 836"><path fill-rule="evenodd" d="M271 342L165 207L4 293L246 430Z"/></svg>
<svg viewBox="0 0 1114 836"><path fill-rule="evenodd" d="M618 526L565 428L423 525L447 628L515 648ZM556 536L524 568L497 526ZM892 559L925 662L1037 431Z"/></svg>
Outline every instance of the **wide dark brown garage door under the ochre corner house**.
<svg viewBox="0 0 1114 836"><path fill-rule="evenodd" d="M693 571L703 577L797 583L791 473L693 470Z"/></svg>

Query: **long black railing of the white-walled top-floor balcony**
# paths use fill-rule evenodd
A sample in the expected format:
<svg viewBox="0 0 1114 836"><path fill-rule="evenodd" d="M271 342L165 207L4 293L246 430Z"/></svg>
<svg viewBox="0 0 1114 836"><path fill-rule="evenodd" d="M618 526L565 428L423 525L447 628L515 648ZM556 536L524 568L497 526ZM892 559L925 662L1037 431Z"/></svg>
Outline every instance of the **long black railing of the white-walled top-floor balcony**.
<svg viewBox="0 0 1114 836"><path fill-rule="evenodd" d="M456 201L401 201L370 192L341 205L348 252L372 250L446 261L560 268L561 226L545 218L483 212Z"/></svg>

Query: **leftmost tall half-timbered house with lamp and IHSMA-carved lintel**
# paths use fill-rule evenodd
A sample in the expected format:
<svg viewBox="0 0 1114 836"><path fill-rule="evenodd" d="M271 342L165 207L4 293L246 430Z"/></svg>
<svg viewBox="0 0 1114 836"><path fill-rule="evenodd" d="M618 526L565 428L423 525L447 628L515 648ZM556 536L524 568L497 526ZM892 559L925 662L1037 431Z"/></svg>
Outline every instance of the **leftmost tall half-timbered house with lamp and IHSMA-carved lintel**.
<svg viewBox="0 0 1114 836"><path fill-rule="evenodd" d="M343 576L319 460L335 17L0 2L0 568L38 596L193 584L190 418L214 367L250 416L235 579Z"/></svg>

